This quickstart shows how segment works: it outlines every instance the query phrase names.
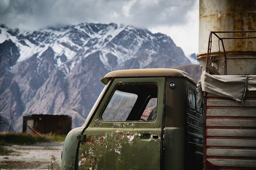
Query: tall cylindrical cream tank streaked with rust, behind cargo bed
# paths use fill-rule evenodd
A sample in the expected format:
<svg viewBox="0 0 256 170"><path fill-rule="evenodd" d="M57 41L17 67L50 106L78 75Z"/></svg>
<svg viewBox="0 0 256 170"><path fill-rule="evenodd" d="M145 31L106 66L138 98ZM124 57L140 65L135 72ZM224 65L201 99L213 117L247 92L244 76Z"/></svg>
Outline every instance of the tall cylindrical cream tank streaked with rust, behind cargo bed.
<svg viewBox="0 0 256 170"><path fill-rule="evenodd" d="M211 31L256 30L256 1L254 0L200 0L199 2L199 55L197 60L203 69L209 34ZM256 36L256 33L220 33L221 37ZM243 58L227 61L227 74L256 74L256 39L223 40L227 58ZM219 55L218 38L212 36L211 56ZM216 54L214 54L216 53ZM255 59L245 59L255 58ZM219 72L224 74L224 55L220 42ZM212 63L217 68L218 63Z"/></svg>

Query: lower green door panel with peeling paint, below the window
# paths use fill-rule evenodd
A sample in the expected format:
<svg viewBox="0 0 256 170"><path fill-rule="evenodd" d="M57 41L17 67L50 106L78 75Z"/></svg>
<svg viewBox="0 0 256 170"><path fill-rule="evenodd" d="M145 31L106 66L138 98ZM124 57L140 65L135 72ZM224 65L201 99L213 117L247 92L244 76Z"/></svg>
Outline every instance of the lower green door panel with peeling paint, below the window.
<svg viewBox="0 0 256 170"><path fill-rule="evenodd" d="M133 169L139 167L159 169L161 129L128 127L129 125L127 128L86 129L90 140L80 143L78 168ZM153 135L158 138L153 139ZM101 136L103 142L100 143ZM94 161L91 162L91 159Z"/></svg>

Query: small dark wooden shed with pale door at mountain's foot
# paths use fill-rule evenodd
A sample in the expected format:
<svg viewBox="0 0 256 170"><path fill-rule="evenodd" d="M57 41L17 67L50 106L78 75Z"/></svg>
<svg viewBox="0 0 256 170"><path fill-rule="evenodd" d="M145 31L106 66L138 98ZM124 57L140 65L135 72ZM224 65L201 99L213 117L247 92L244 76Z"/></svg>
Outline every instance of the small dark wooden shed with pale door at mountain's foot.
<svg viewBox="0 0 256 170"><path fill-rule="evenodd" d="M39 133L68 134L72 126L69 115L23 115L23 132L32 133L27 125Z"/></svg>

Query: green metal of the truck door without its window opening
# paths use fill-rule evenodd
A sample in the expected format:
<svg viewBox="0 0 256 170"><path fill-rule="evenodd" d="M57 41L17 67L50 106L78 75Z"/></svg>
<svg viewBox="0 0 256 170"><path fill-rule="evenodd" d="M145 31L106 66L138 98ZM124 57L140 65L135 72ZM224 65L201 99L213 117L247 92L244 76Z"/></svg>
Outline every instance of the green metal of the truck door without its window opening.
<svg viewBox="0 0 256 170"><path fill-rule="evenodd" d="M158 85L155 121L103 121L102 113L116 85L155 83ZM112 80L100 106L91 116L86 139L77 153L78 169L160 169L162 113L165 78L122 78ZM97 122L97 126L95 124Z"/></svg>

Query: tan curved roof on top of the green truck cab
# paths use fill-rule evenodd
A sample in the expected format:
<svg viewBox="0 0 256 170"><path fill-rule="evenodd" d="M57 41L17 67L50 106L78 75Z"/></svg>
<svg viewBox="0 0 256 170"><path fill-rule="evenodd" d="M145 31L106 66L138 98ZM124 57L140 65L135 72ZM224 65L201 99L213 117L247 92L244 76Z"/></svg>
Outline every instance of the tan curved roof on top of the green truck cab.
<svg viewBox="0 0 256 170"><path fill-rule="evenodd" d="M197 83L188 73L176 69L131 69L111 71L101 78L101 82L105 85L110 78L143 78L143 77L185 77Z"/></svg>

